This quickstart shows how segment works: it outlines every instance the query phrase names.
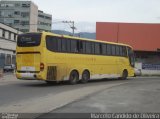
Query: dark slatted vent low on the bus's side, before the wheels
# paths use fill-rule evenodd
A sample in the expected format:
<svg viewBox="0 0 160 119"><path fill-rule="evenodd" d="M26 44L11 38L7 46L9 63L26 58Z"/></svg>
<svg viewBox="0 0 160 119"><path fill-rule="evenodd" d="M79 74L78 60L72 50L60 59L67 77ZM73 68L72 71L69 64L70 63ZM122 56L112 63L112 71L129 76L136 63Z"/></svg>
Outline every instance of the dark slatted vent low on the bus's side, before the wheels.
<svg viewBox="0 0 160 119"><path fill-rule="evenodd" d="M48 66L47 69L47 80L56 80L57 68L56 66Z"/></svg>

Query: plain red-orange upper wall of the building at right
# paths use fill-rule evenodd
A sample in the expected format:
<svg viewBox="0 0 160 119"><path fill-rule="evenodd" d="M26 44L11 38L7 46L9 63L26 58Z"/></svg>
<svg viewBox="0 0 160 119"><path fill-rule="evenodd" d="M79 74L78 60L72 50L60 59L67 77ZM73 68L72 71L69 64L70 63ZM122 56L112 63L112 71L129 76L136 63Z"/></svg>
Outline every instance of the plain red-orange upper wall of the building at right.
<svg viewBox="0 0 160 119"><path fill-rule="evenodd" d="M126 43L137 51L160 49L160 24L96 23L96 39Z"/></svg>

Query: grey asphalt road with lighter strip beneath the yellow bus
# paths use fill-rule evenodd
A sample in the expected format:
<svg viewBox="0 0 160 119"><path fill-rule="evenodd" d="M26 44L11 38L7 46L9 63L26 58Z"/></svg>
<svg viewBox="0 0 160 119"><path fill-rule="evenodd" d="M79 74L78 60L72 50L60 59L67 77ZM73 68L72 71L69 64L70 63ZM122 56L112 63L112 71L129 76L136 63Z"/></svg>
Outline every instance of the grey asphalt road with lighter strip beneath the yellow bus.
<svg viewBox="0 0 160 119"><path fill-rule="evenodd" d="M159 91L160 78L100 80L77 85L6 81L0 84L0 112L32 113L26 116L33 118L54 113L160 112Z"/></svg>

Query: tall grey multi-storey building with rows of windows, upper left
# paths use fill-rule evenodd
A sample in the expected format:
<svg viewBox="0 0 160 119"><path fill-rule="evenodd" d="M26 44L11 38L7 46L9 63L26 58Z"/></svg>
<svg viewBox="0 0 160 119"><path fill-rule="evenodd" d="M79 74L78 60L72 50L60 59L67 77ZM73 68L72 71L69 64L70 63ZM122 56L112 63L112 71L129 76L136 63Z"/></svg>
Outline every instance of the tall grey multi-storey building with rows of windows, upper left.
<svg viewBox="0 0 160 119"><path fill-rule="evenodd" d="M44 13L45 14L45 13ZM37 32L39 27L41 30L51 30L52 15L45 14L50 20L44 22L43 27L39 24L38 6L32 1L0 1L0 22L16 28L22 32ZM46 21L46 17L41 18Z"/></svg>

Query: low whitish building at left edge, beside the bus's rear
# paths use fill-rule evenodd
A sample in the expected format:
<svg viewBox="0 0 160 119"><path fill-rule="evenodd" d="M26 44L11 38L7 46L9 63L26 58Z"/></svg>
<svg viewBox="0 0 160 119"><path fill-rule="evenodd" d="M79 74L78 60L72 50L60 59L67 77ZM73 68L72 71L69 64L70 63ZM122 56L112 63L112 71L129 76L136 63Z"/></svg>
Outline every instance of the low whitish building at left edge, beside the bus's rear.
<svg viewBox="0 0 160 119"><path fill-rule="evenodd" d="M20 31L0 23L0 68L16 62L16 39Z"/></svg>

